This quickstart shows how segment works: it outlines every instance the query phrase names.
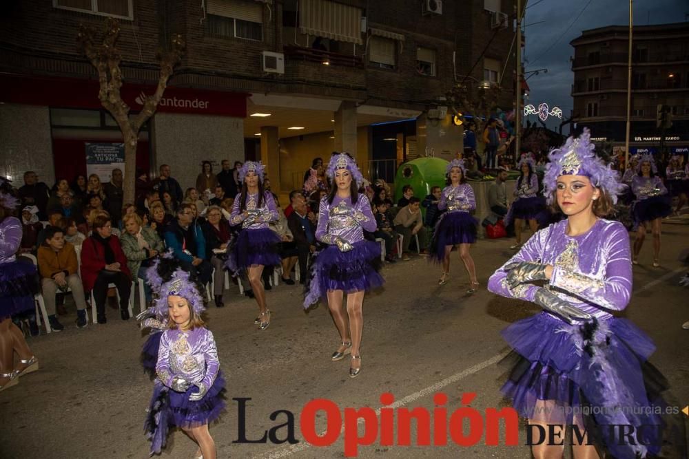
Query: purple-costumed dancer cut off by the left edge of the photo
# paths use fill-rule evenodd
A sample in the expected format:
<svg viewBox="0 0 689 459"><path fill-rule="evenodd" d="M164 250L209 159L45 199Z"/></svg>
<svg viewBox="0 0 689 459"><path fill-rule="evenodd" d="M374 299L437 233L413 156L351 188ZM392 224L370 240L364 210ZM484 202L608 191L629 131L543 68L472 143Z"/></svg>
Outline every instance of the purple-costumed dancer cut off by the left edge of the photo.
<svg viewBox="0 0 689 459"><path fill-rule="evenodd" d="M19 200L9 182L0 177L0 391L19 383L19 376L39 369L13 314L34 310L38 290L36 267L17 261L21 245L21 222L13 216ZM19 365L14 365L14 353Z"/></svg>

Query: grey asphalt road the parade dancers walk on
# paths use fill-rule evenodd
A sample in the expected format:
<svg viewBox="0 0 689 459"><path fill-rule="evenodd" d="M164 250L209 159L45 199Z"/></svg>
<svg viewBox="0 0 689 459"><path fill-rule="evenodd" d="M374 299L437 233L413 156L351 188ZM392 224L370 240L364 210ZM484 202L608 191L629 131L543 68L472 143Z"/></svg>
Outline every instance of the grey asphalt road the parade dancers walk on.
<svg viewBox="0 0 689 459"><path fill-rule="evenodd" d="M220 363L227 378L227 412L211 427L218 457L236 458L342 458L343 434L327 447L304 441L300 414L314 398L345 408L382 407L381 394L393 394L398 408L424 408L433 418L434 394L448 397L449 413L471 406L480 414L491 407L509 406L500 395L504 367L496 365L506 347L500 330L508 323L538 312L522 301L496 297L485 290L493 270L511 253L512 240L481 240L472 248L481 290L466 295L469 280L453 254L451 280L438 286L440 269L415 257L384 268L384 290L364 301L362 373L348 377L349 360L331 362L338 334L327 307L302 311L300 286L281 284L267 293L274 311L264 332L253 325L256 306L240 297L236 288L225 292L227 306L209 308L207 323L218 344ZM677 281L686 272L682 259L689 250L689 226L664 225L661 268L652 268L650 241L634 268L633 299L622 314L650 334L657 344L654 363L672 385L672 394L683 407L689 403L689 290ZM77 330L74 308L61 318L63 332L29 339L41 370L21 378L16 387L0 394L0 458L145 458L148 445L143 421L152 383L143 374L138 355L144 338L136 322L121 321L108 310L105 325ZM473 401L462 394L475 393ZM295 445L238 443L244 401L245 436L260 439L273 427L277 440L288 434L289 414L294 416ZM469 403L469 405L466 405ZM333 406L334 406L333 405ZM399 410L395 416L399 415ZM380 420L378 423L384 421ZM333 416L333 426L336 426ZM347 432L352 434L353 424ZM315 432L325 431L323 412L316 416ZM359 425L359 434L364 434ZM372 427L369 425L369 428ZM384 430L384 429L380 429ZM416 438L412 427L411 438ZM371 431L372 432L372 431ZM369 433L371 433L369 432ZM371 445L358 448L361 458L529 458L528 447L476 445L460 447L448 440L445 446L384 445L380 432ZM395 436L395 439L397 437ZM433 430L431 430L433 442ZM413 440L414 444L415 441ZM192 458L196 447L184 434L172 436L163 458Z"/></svg>

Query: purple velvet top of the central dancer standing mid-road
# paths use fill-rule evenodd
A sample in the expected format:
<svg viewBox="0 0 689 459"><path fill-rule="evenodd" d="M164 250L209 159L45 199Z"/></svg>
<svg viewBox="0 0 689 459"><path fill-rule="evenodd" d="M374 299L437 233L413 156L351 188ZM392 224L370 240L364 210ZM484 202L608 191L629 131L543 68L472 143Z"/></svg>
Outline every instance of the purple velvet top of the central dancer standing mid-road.
<svg viewBox="0 0 689 459"><path fill-rule="evenodd" d="M355 218L355 214L359 219ZM349 244L354 244L364 240L364 230L371 233L376 231L376 218L366 195L358 195L354 206L351 205L351 198L340 198L338 195L332 204L328 203L327 196L320 200L316 228L316 239L320 242L333 244L333 237L342 237Z"/></svg>

